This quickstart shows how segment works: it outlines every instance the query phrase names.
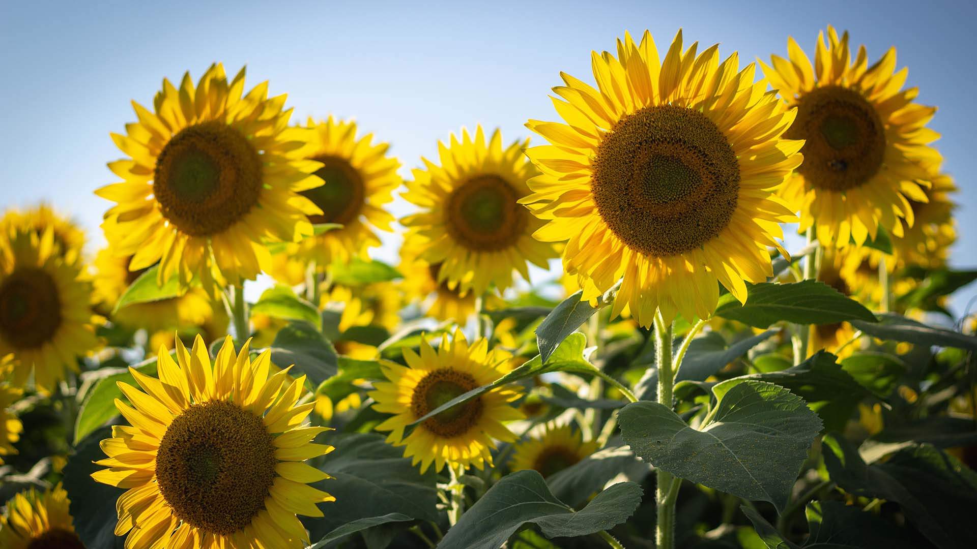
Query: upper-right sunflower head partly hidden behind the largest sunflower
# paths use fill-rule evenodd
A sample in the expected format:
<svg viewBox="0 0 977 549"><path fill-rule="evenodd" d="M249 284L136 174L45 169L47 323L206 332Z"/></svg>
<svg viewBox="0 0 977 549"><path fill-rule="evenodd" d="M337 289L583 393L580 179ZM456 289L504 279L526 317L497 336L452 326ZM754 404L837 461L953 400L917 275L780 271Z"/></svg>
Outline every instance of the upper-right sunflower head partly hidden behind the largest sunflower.
<svg viewBox="0 0 977 549"><path fill-rule="evenodd" d="M814 228L818 240L837 247L861 246L879 228L902 236L904 221L913 226L908 199L926 201L923 189L941 161L928 145L940 135L926 127L936 107L913 103L917 88L903 89L908 71L895 71L895 48L869 66L860 46L852 62L848 33L839 38L828 26L813 66L793 38L787 54L772 56L773 67L760 63L797 107L785 136L806 140L804 162L782 190L800 211L800 231Z"/></svg>

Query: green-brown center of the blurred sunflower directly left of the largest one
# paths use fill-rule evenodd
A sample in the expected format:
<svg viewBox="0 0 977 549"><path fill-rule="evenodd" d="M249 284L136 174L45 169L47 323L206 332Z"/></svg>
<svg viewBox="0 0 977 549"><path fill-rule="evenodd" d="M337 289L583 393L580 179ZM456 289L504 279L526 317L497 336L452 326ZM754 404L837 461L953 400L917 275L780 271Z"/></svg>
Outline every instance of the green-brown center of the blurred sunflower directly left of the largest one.
<svg viewBox="0 0 977 549"><path fill-rule="evenodd" d="M476 176L448 196L447 232L470 250L508 248L519 240L528 222L526 208L517 203L520 197L499 176Z"/></svg>

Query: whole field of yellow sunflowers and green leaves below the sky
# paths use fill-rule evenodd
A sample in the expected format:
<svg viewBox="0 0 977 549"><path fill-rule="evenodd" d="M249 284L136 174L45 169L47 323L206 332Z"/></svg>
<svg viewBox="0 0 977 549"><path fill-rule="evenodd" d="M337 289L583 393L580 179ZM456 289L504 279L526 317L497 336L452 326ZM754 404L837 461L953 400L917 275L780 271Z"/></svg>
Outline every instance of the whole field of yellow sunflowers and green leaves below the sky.
<svg viewBox="0 0 977 549"><path fill-rule="evenodd" d="M418 159L163 78L104 238L0 204L0 549L977 547L936 107L831 26L696 38Z"/></svg>

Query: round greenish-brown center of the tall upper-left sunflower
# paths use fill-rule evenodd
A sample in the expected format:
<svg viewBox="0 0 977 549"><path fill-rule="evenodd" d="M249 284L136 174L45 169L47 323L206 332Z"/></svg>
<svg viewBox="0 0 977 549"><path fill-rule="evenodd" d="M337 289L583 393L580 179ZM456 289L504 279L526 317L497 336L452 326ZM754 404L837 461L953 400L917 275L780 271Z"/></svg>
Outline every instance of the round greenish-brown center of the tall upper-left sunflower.
<svg viewBox="0 0 977 549"><path fill-rule="evenodd" d="M184 128L159 153L152 192L163 217L181 232L209 236L258 204L263 167L234 128L205 122Z"/></svg>

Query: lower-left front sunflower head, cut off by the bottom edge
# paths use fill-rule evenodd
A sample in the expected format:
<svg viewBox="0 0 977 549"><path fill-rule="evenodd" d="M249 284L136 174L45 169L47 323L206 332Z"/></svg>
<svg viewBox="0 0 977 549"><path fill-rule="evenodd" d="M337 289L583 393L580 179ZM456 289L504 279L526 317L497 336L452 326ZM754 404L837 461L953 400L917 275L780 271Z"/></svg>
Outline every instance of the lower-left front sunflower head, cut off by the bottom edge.
<svg viewBox="0 0 977 549"><path fill-rule="evenodd" d="M174 361L159 349L159 379L130 368L145 393L119 383L128 425L102 442L108 469L92 477L126 488L115 534L126 547L303 547L295 516L321 517L335 498L308 486L329 478L303 463L332 446L310 443L324 427L301 427L313 403L295 405L305 376L285 386L289 368L269 376L270 352L235 356L229 336L211 366L197 337L177 339ZM280 395L280 398L279 398Z"/></svg>

